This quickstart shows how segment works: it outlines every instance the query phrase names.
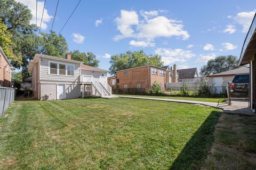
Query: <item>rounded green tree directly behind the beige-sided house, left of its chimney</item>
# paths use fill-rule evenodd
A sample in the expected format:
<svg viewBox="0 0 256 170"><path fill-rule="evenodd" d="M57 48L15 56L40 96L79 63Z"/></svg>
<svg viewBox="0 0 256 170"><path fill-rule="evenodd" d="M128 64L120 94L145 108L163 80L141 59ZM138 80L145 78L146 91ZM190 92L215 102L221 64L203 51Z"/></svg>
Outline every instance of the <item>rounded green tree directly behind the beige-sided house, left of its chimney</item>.
<svg viewBox="0 0 256 170"><path fill-rule="evenodd" d="M64 58L68 52L66 39L61 34L57 35L52 30L50 31L50 34L41 33L38 37L38 42L39 53L41 54Z"/></svg>

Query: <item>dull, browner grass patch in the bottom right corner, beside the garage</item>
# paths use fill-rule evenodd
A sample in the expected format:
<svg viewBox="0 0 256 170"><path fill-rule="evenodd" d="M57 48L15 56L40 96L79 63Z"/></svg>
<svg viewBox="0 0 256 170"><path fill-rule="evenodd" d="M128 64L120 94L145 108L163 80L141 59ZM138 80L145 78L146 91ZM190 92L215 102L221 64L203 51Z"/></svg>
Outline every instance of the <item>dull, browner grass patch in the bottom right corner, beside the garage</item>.
<svg viewBox="0 0 256 170"><path fill-rule="evenodd" d="M256 116L223 114L203 169L256 169Z"/></svg>

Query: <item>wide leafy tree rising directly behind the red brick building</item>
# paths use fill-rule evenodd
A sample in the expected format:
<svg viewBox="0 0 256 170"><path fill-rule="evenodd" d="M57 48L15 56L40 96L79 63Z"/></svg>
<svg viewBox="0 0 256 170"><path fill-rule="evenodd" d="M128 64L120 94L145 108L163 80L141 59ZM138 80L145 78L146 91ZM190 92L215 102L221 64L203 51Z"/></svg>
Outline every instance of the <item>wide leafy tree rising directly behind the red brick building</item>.
<svg viewBox="0 0 256 170"><path fill-rule="evenodd" d="M110 74L116 74L116 71L129 69L133 67L151 64L154 66L162 66L161 56L147 55L141 51L127 51L125 53L112 55L110 59Z"/></svg>

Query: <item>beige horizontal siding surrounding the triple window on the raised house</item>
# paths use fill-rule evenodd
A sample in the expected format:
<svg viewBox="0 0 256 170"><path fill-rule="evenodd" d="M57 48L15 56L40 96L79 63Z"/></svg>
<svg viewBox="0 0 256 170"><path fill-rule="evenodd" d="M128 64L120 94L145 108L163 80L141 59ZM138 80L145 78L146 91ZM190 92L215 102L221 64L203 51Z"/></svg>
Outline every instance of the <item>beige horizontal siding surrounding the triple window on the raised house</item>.
<svg viewBox="0 0 256 170"><path fill-rule="evenodd" d="M49 61L58 62L49 59L41 59L41 81L60 81L60 82L78 82L80 74L80 64L65 62L64 64L73 64L75 66L74 76L62 76L62 75L50 75L48 74L49 70Z"/></svg>

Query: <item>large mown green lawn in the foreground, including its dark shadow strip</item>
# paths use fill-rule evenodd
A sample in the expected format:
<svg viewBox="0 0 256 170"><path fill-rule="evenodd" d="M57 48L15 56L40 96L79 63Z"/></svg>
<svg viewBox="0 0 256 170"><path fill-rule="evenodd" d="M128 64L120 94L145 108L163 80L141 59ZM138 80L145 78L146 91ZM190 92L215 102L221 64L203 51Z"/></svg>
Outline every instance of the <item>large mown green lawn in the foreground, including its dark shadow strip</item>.
<svg viewBox="0 0 256 170"><path fill-rule="evenodd" d="M0 117L0 169L200 169L220 115L122 98L15 101Z"/></svg>

